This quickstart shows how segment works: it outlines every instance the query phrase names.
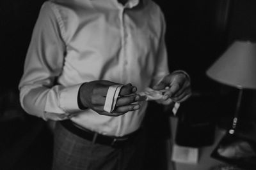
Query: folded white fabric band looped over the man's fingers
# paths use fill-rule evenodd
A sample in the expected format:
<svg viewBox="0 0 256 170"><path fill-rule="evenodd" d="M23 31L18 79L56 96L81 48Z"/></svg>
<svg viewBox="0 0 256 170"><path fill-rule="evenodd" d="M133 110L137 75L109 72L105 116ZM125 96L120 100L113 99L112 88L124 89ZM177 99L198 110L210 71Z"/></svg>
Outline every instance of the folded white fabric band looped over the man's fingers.
<svg viewBox="0 0 256 170"><path fill-rule="evenodd" d="M123 85L111 85L109 87L103 108L104 111L112 113L112 111L115 109L116 101L122 87Z"/></svg>

